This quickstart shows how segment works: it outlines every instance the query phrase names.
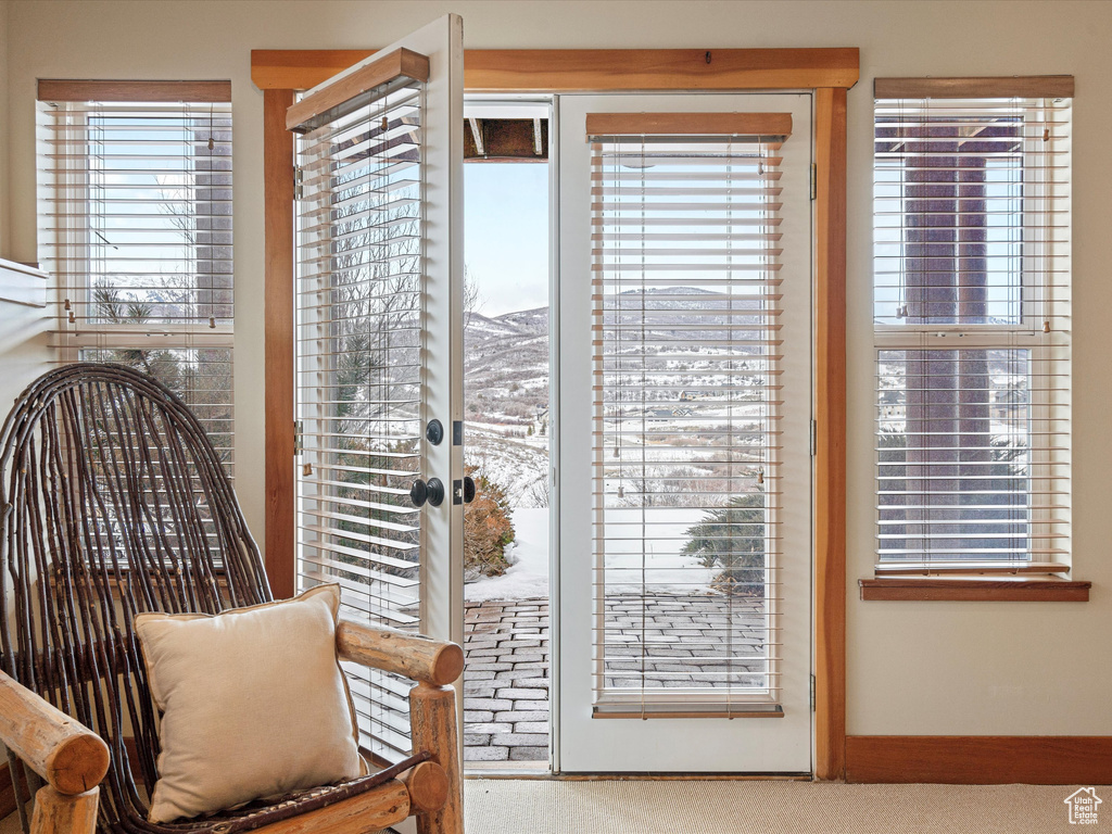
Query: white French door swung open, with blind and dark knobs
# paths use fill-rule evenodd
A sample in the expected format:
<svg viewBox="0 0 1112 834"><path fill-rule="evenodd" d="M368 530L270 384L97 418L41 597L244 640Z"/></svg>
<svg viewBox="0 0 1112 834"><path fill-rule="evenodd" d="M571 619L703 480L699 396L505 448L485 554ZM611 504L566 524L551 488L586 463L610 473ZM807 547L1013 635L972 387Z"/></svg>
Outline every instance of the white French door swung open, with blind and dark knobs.
<svg viewBox="0 0 1112 834"><path fill-rule="evenodd" d="M297 142L300 588L463 643L463 21L308 91ZM346 669L363 744L409 754L410 683Z"/></svg>

